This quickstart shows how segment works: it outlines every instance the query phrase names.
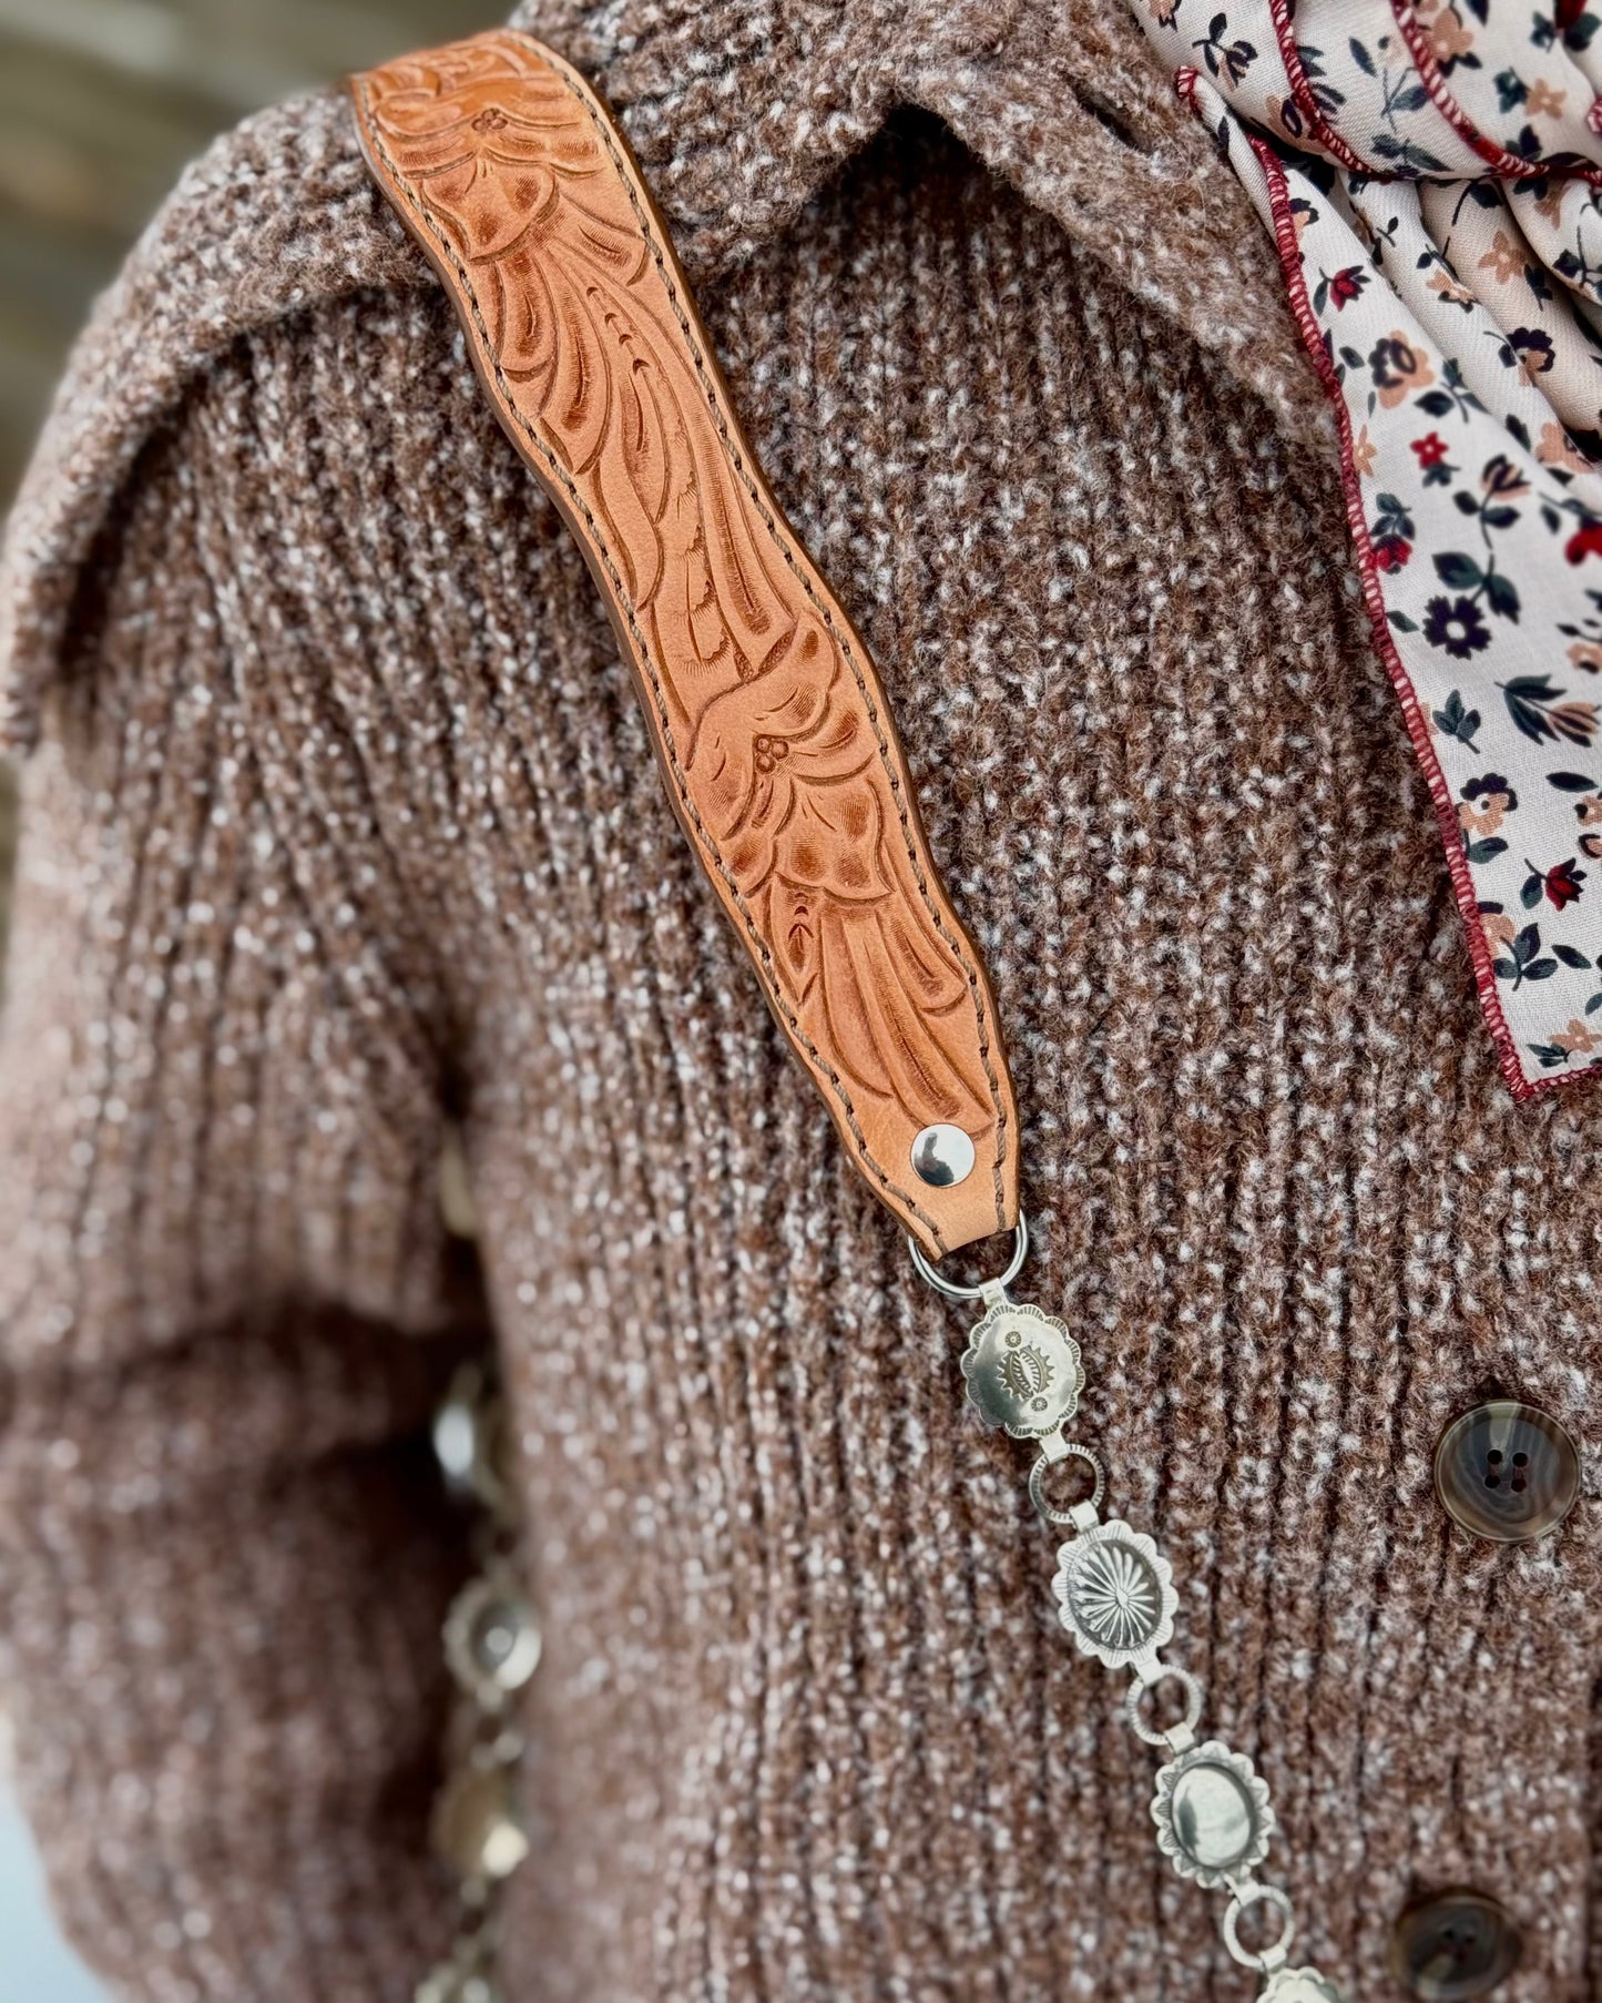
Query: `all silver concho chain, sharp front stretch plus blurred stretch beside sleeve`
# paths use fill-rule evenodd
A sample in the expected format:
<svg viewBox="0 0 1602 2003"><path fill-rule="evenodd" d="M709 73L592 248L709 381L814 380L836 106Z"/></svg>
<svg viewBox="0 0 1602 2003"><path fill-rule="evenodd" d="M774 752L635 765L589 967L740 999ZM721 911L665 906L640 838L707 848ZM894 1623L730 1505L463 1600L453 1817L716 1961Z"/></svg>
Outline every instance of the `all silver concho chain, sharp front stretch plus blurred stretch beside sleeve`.
<svg viewBox="0 0 1602 2003"><path fill-rule="evenodd" d="M1101 1514L1105 1462L1095 1448L1063 1432L1083 1386L1079 1346L1055 1316L1007 1294L1005 1282L1025 1246L1019 1226L1005 1278L977 1288L943 1282L923 1260L919 1272L947 1298L983 1300L985 1314L963 1356L967 1396L987 1424L1035 1444L1029 1500L1047 1528L1067 1532L1057 1546L1053 1580L1061 1626L1081 1654L1129 1673L1129 1727L1167 1755L1151 1801L1157 1847L1179 1877L1204 1891L1230 1893L1224 1947L1242 1967L1262 1975L1262 2003L1342 2003L1318 1969L1290 1967L1292 1899L1256 1877L1276 1829L1268 1785L1246 1755L1220 1739L1197 1739L1202 1685L1161 1652L1177 1612L1171 1566L1143 1530ZM495 1981L499 1887L529 1851L515 1789L523 1735L507 1713L539 1666L539 1624L517 1584L519 1524L515 1484L507 1480L507 1420L483 1372L469 1366L453 1382L435 1438L447 1476L479 1504L483 1518L479 1570L453 1602L445 1626L457 1703L447 1735L451 1777L435 1811L435 1845L457 1871L463 1927L447 1959L419 1983L415 2003L503 2003ZM1085 1498L1061 1504L1049 1498L1047 1480L1067 1462L1089 1468L1091 1488ZM1177 1689L1183 1709L1159 1725L1147 1711L1165 1689ZM1278 1913L1280 1935L1254 1949L1242 1943L1240 1927L1260 1907Z"/></svg>

